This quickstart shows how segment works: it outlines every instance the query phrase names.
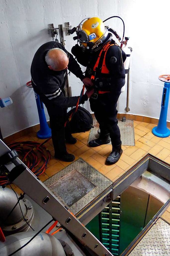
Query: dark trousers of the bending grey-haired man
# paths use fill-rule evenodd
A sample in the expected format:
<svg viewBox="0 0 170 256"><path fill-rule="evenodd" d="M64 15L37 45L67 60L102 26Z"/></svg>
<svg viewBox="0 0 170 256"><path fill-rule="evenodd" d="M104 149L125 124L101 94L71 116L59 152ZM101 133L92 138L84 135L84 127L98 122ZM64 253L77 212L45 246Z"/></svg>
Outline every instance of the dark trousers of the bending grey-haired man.
<svg viewBox="0 0 170 256"><path fill-rule="evenodd" d="M49 100L46 100L44 97L40 96L40 98L45 104L50 117L50 128L55 155L63 155L67 152L65 138L71 137L69 123L64 127L67 109L49 102Z"/></svg>

